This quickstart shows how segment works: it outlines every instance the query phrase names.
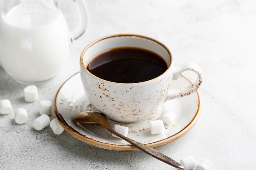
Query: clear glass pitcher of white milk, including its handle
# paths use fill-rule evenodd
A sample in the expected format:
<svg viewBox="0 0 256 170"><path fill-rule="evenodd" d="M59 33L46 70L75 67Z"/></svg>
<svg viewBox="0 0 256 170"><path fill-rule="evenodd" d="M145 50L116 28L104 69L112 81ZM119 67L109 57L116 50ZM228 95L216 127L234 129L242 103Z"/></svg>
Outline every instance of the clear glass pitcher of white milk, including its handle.
<svg viewBox="0 0 256 170"><path fill-rule="evenodd" d="M69 57L70 44L88 24L84 0L74 0L79 24L70 31L58 0L5 0L0 17L0 63L23 84L54 77Z"/></svg>

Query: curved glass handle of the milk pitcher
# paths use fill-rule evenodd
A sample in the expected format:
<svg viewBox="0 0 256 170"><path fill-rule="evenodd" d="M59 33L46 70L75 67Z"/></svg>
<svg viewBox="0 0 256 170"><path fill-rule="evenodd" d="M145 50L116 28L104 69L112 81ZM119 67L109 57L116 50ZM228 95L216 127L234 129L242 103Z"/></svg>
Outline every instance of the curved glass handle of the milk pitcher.
<svg viewBox="0 0 256 170"><path fill-rule="evenodd" d="M79 23L71 32L71 41L74 42L77 38L81 37L88 25L88 11L84 0L73 0L76 4L78 16L79 16Z"/></svg>

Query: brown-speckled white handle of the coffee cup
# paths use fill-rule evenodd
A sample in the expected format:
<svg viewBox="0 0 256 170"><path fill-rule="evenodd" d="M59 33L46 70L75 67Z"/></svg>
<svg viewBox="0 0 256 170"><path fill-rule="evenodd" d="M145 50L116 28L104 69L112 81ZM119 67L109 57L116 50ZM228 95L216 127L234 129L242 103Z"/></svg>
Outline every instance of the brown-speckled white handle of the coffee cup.
<svg viewBox="0 0 256 170"><path fill-rule="evenodd" d="M175 99L179 97L184 97L186 95L190 95L195 91L197 91L200 85L202 84L202 70L200 66L192 62L184 63L176 67L175 72L173 73L173 80L177 80L184 71L193 71L195 74L197 74L198 76L197 79L192 85L187 86L185 88L169 90L167 97L165 99L165 102L170 99Z"/></svg>

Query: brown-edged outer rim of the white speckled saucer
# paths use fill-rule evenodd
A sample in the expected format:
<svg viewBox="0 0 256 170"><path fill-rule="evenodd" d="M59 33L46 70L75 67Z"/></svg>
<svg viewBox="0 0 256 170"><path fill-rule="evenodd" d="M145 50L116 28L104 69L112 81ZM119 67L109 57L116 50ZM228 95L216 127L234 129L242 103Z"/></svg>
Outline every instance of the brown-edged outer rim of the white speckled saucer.
<svg viewBox="0 0 256 170"><path fill-rule="evenodd" d="M56 119L58 120L58 122L61 124L61 126L73 137L75 137L76 139L79 139L80 141L85 142L86 144L90 144L92 146L96 146L98 148L103 148L103 149L108 149L108 150L117 150L117 151L136 151L139 150L138 148L136 148L135 146L127 146L127 145L117 145L117 144L108 144L108 143L104 143L101 141L97 141L95 139L89 138L89 137L85 137L83 134L77 132L74 128L72 128L71 126L69 126L65 120L63 120L63 117L61 115L61 113L58 112L58 108L57 108L57 97L58 97L58 93L61 90L61 88L63 87L63 85L69 81L72 77L74 77L75 75L79 74L80 72L77 72L73 75L71 75L67 80L65 80L65 82L63 82L63 84L61 84L61 86L58 88L58 91L56 92L56 95L54 97L54 115L56 117ZM192 82L186 78L184 75L181 75L181 77L185 78L189 83L192 84ZM161 139L159 141L155 141L149 144L146 144L146 146L150 147L150 148L155 148L158 146L163 146L165 144L168 144L172 141L175 141L176 139L179 139L180 137L182 137L183 135L185 135L189 130L191 130L191 128L195 125L195 123L198 121L198 118L201 114L201 102L200 102L200 96L198 91L196 91L197 96L198 96L198 109L194 115L194 117L191 119L191 121L189 122L189 124L187 124L182 130L180 130L179 132L175 133L174 135L171 135L165 139Z"/></svg>

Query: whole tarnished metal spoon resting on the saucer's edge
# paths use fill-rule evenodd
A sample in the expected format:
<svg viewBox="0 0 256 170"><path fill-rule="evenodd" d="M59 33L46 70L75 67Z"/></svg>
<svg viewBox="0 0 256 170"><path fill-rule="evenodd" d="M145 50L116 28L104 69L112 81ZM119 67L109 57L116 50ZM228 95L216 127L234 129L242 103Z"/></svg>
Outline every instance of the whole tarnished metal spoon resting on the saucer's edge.
<svg viewBox="0 0 256 170"><path fill-rule="evenodd" d="M79 122L79 123L97 123L97 124L101 124L102 126L104 126L108 131L110 131L111 133L117 135L118 137L120 137L121 139L124 139L125 141L129 142L130 144L132 144L133 146L135 146L136 148L142 150L143 152L147 153L148 155L151 155L152 157L163 161L164 163L167 163L168 165L171 165L175 168L179 168L179 169L183 169L184 167L174 161L173 159L167 157L166 155L158 152L157 150L150 148L144 144L141 144L135 140L132 140L128 137L125 137L123 135L121 135L120 133L116 132L115 130L113 130L109 124L108 124L108 120L107 117L101 113L98 112L81 112L78 113L74 116L72 116L72 120Z"/></svg>

